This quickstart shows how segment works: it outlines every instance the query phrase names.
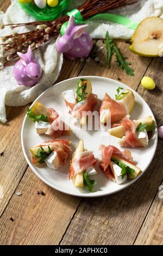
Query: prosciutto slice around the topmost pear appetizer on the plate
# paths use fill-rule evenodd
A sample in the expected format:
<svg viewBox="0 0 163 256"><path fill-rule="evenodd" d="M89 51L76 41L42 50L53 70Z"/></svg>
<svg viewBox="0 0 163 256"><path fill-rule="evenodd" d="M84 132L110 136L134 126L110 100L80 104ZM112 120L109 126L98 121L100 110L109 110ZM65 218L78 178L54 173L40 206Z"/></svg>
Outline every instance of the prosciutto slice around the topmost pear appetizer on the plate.
<svg viewBox="0 0 163 256"><path fill-rule="evenodd" d="M73 117L81 118L83 117L86 112L90 111L93 112L96 105L98 104L98 97L96 94L91 93L87 100L83 100L78 102L72 111ZM84 113L85 112L85 113Z"/></svg>

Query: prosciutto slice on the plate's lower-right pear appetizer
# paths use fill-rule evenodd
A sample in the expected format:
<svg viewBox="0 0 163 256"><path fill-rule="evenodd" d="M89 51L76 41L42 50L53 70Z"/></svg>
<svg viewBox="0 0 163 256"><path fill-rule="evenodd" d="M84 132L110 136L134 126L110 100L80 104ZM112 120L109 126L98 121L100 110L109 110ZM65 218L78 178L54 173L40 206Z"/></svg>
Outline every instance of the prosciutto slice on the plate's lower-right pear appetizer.
<svg viewBox="0 0 163 256"><path fill-rule="evenodd" d="M118 156L121 157L121 159L135 165L135 162L131 157L130 151L128 150L124 150L123 152L121 152L119 149L112 145L100 145L99 150L102 150L102 159L99 163L99 167L108 176L110 180L114 179L114 175L112 174L111 169L109 167L111 158L116 159L116 156Z"/></svg>

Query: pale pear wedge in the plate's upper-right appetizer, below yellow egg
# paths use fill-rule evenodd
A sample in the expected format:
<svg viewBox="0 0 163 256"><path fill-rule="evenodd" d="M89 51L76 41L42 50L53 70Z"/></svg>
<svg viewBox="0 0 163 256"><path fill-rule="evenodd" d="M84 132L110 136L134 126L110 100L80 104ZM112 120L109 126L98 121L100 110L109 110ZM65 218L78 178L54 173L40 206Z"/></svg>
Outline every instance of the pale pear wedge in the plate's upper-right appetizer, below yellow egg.
<svg viewBox="0 0 163 256"><path fill-rule="evenodd" d="M126 111L128 114L130 114L133 111L133 108L135 106L135 96L131 90L125 90L124 93L127 94L122 94L120 98L117 100L117 102L121 102L123 106L126 108Z"/></svg>

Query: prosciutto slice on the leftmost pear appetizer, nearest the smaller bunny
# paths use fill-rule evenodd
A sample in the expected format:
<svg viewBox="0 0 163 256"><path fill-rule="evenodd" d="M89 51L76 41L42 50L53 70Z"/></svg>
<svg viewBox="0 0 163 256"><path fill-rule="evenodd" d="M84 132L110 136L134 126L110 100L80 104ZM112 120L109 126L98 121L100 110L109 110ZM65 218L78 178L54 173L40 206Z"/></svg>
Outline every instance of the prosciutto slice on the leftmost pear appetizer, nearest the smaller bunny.
<svg viewBox="0 0 163 256"><path fill-rule="evenodd" d="M53 108L48 108L48 111L48 121L51 127L46 131L46 134L52 138L59 138L64 132L64 122Z"/></svg>

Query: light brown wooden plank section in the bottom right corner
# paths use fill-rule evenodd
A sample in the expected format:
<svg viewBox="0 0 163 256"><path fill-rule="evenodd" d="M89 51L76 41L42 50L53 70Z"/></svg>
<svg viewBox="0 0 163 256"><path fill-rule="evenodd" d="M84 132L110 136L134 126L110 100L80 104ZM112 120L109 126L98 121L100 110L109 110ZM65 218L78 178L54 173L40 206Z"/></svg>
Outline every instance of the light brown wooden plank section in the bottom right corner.
<svg viewBox="0 0 163 256"><path fill-rule="evenodd" d="M134 245L163 244L163 182Z"/></svg>

